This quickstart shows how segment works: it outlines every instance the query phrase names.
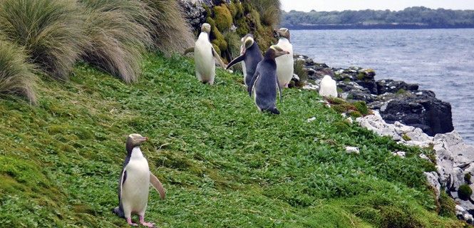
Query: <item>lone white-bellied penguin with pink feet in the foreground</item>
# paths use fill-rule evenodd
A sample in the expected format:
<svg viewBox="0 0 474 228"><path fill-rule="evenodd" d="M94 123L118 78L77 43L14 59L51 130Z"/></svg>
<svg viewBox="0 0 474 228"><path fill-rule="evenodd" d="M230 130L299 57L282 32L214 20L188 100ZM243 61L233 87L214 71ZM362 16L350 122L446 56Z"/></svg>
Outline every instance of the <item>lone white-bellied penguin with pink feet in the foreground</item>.
<svg viewBox="0 0 474 228"><path fill-rule="evenodd" d="M128 135L126 142L127 156L123 162L122 174L118 179L118 207L113 212L127 219L133 226L132 213L138 214L140 224L145 227L155 227L154 223L145 222L145 210L148 204L148 187L150 183L165 198L165 189L160 180L150 172L148 161L140 150L140 145L148 140L138 134Z"/></svg>

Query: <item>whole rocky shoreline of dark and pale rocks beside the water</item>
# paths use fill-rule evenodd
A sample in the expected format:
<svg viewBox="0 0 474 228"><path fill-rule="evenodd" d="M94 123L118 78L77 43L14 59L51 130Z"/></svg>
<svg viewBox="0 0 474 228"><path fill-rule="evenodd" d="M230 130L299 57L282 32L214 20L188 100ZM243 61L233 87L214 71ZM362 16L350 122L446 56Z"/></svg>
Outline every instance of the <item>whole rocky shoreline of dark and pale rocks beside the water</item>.
<svg viewBox="0 0 474 228"><path fill-rule="evenodd" d="M474 224L474 146L465 144L454 130L449 103L438 100L431 90L418 90L416 84L376 81L372 69L330 68L307 56L294 57L304 61L308 73L304 89L318 90L321 79L329 75L337 82L340 98L363 100L373 110L372 115L356 118L356 123L403 145L432 148L436 172L425 172L428 183L437 197L443 191L454 199L459 219ZM299 77L294 76L294 81ZM405 152L394 151L393 155L405 157ZM430 160L427 155L419 156Z"/></svg>

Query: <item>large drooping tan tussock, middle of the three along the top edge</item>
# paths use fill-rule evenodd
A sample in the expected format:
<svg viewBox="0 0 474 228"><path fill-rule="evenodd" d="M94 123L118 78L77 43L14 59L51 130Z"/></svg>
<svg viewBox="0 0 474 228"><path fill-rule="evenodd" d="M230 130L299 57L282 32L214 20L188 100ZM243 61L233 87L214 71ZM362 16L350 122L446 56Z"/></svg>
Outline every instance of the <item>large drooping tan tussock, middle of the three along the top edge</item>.
<svg viewBox="0 0 474 228"><path fill-rule="evenodd" d="M83 0L86 15L83 59L118 76L125 83L137 81L143 53L152 43L153 14L139 0Z"/></svg>

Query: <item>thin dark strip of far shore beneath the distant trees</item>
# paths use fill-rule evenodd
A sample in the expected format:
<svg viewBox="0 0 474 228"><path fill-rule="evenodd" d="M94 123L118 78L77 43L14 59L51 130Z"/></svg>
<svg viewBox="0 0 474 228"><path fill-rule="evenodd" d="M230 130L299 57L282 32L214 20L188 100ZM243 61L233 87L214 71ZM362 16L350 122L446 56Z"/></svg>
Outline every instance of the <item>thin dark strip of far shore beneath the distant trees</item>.
<svg viewBox="0 0 474 228"><path fill-rule="evenodd" d="M283 25L282 27L293 30L340 30L340 29L451 29L451 28L474 28L473 25L459 26L430 26L419 24L314 24L314 25Z"/></svg>

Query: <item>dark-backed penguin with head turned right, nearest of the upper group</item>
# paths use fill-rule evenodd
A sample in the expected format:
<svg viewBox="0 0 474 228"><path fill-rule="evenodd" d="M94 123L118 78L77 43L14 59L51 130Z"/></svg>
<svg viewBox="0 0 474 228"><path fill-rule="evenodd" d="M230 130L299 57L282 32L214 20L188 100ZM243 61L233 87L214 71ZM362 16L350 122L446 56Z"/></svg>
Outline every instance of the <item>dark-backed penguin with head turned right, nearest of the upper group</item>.
<svg viewBox="0 0 474 228"><path fill-rule="evenodd" d="M282 99L282 89L277 78L277 62L275 58L289 54L277 45L272 45L265 53L264 59L260 61L255 70L252 81L249 83L249 95L254 96L255 105L260 111L268 111L279 114L276 106L277 90L279 98Z"/></svg>

